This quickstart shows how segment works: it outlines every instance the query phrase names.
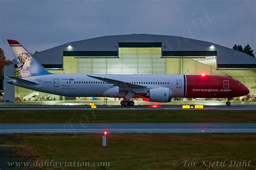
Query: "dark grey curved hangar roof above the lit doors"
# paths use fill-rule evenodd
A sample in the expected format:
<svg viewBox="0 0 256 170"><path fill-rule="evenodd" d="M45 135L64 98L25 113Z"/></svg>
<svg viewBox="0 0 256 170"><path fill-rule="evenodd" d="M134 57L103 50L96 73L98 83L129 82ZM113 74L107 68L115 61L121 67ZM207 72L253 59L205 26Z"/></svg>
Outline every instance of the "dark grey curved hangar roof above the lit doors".
<svg viewBox="0 0 256 170"><path fill-rule="evenodd" d="M90 52L108 52L111 55L118 55L120 43L129 45L129 43L132 44L131 42L141 45L151 44L152 46L160 44L162 54L168 56L217 55L218 68L256 68L256 58L231 48L207 41L153 34L104 36L74 41L46 49L34 54L34 56L46 68L59 68L63 65L63 55L65 55L65 52L68 52L68 55L70 55L70 52L76 52L72 56L76 56L78 53L79 56L83 56L85 53ZM68 46L72 46L72 49L69 49Z"/></svg>

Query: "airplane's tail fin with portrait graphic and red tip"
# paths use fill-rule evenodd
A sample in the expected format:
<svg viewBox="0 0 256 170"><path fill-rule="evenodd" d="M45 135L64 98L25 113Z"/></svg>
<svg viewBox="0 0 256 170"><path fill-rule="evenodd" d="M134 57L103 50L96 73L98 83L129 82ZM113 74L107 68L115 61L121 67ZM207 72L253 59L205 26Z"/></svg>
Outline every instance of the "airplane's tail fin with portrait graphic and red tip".
<svg viewBox="0 0 256 170"><path fill-rule="evenodd" d="M21 77L51 74L16 40L8 40Z"/></svg>

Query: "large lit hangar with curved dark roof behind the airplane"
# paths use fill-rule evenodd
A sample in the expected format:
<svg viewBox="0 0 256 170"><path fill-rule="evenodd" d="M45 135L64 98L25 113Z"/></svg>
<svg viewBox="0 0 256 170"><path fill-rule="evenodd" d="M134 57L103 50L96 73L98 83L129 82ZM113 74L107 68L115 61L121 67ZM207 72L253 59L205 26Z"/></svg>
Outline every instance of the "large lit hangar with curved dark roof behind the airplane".
<svg viewBox="0 0 256 170"><path fill-rule="evenodd" d="M250 95L256 94L256 59L207 41L152 34L104 36L69 42L33 56L56 74L204 73L233 77L250 89ZM15 87L16 96L32 93L36 92Z"/></svg>

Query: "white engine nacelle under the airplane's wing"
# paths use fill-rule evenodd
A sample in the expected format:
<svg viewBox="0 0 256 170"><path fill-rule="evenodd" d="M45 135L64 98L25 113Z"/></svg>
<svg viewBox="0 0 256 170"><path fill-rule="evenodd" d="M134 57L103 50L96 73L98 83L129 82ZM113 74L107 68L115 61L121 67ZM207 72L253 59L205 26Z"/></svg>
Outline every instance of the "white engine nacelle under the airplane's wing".
<svg viewBox="0 0 256 170"><path fill-rule="evenodd" d="M166 87L150 89L147 91L147 97L151 102L171 102L172 91Z"/></svg>

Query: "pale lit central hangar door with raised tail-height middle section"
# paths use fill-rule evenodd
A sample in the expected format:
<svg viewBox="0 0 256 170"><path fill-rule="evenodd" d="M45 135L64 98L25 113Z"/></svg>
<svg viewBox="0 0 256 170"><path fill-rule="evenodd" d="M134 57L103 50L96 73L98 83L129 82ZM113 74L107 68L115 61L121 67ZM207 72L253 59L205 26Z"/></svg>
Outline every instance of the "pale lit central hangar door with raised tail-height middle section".
<svg viewBox="0 0 256 170"><path fill-rule="evenodd" d="M78 74L166 74L159 43L120 43L119 58L78 58Z"/></svg>

